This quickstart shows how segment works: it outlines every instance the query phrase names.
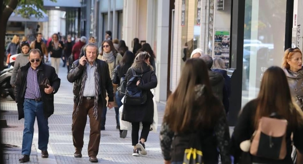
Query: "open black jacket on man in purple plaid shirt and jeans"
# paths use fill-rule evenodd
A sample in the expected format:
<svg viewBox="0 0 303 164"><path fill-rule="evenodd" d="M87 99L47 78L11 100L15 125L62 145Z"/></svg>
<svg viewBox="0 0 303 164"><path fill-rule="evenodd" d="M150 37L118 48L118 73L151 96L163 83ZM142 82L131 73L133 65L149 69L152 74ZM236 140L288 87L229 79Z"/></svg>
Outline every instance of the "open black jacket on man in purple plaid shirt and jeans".
<svg viewBox="0 0 303 164"><path fill-rule="evenodd" d="M26 91L26 78L27 78L27 72L30 67L30 63L28 62L25 66L21 67L16 76L16 82L15 82L15 97L16 102L18 106L18 115L19 120L21 118L24 118L24 111L23 111L23 104L24 104L24 96ZM44 88L41 88L40 86L40 94L43 101L43 112L45 117L49 117L54 113L54 94L58 92L58 89L60 87L61 79L58 78L58 75L56 74L55 68L52 66L48 66L44 63L41 63L40 66L37 68L37 78L38 83L40 84L42 80L47 77L51 86L54 87L55 92L52 94L46 94L44 92Z"/></svg>

